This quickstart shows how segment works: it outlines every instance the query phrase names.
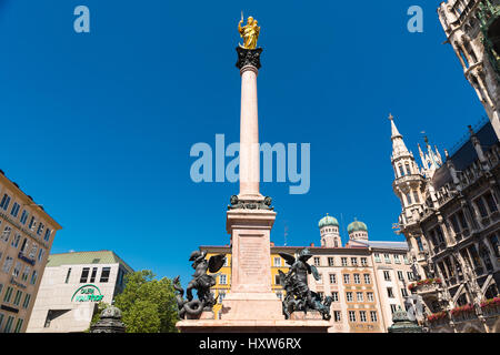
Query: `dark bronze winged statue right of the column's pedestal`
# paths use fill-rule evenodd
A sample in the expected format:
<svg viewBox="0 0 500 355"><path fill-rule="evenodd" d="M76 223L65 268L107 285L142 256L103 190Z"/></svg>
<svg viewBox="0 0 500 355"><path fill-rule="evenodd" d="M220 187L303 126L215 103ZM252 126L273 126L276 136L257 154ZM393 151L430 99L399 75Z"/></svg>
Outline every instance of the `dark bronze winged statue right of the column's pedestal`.
<svg viewBox="0 0 500 355"><path fill-rule="evenodd" d="M280 284L287 293L282 302L284 317L289 320L296 311L303 311L304 313L308 311L318 311L323 320L329 321L331 318L331 296L323 300L320 294L310 291L308 286L308 274L312 274L317 281L320 278L316 266L307 263L312 256L310 251L308 248L302 250L297 260L286 253L280 253L279 255L290 265L287 274L279 271Z"/></svg>

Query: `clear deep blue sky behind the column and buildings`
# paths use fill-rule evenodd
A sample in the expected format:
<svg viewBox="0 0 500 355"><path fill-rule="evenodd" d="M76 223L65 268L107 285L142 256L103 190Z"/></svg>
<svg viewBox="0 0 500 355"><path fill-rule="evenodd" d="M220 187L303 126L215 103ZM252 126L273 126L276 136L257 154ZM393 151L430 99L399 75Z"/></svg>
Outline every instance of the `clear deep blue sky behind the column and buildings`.
<svg viewBox="0 0 500 355"><path fill-rule="evenodd" d="M73 31L84 4L91 32ZM424 12L423 33L407 10ZM446 40L439 1L0 0L0 168L63 226L52 252L113 250L133 268L191 274L229 243L231 183L191 181L192 144L239 140L240 12L259 20L260 139L311 143L311 187L264 183L271 239L319 243L327 212L372 240L391 226L389 112L417 153L452 146L484 115ZM342 235L346 241L346 233Z"/></svg>

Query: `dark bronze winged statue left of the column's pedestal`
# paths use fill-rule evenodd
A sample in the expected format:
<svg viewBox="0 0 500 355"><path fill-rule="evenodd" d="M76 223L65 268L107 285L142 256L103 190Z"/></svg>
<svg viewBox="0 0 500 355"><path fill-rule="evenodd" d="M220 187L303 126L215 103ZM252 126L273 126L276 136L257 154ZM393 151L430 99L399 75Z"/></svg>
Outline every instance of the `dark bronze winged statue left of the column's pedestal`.
<svg viewBox="0 0 500 355"><path fill-rule="evenodd" d="M218 274L209 275L207 272L217 273L226 263L226 254L218 254L206 258L207 251L194 251L189 261L192 263L194 274L186 290L187 300L183 298L184 290L180 285L180 277L173 278L173 290L178 305L178 314L181 320L198 318L203 311L211 311L217 300L210 292L210 287L216 285ZM192 291L197 291L198 300L193 300Z"/></svg>

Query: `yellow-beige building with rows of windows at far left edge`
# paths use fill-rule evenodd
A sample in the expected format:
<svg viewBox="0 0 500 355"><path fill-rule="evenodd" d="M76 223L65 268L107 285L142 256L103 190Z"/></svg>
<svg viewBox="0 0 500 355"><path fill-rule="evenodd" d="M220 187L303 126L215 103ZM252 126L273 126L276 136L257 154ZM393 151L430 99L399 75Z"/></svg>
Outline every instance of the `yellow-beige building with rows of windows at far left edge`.
<svg viewBox="0 0 500 355"><path fill-rule="evenodd" d="M61 226L0 170L0 333L24 333Z"/></svg>

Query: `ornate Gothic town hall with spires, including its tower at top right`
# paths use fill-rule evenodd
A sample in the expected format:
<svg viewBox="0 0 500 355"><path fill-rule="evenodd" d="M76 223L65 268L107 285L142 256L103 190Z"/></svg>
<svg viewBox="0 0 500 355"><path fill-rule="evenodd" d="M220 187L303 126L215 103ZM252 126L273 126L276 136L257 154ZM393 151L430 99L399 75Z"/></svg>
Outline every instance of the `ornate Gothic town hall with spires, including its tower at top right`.
<svg viewBox="0 0 500 355"><path fill-rule="evenodd" d="M389 118L409 288L429 332L500 333L500 1L449 0L438 14L489 120L444 156L426 138L419 166Z"/></svg>

